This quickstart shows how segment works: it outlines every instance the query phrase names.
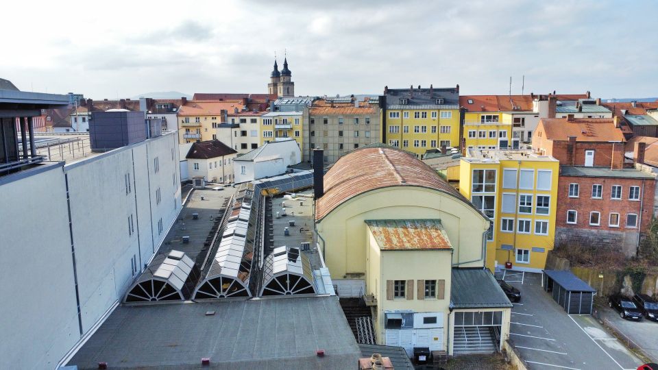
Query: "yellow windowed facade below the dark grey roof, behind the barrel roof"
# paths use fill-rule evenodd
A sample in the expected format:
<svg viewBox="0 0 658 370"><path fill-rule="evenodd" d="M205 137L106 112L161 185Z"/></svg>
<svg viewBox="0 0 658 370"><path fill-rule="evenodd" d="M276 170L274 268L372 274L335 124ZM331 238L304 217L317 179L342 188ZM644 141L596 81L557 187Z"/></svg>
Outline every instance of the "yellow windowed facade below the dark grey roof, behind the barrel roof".
<svg viewBox="0 0 658 370"><path fill-rule="evenodd" d="M459 109L409 108L386 110L386 144L419 157L442 145L459 147Z"/></svg>

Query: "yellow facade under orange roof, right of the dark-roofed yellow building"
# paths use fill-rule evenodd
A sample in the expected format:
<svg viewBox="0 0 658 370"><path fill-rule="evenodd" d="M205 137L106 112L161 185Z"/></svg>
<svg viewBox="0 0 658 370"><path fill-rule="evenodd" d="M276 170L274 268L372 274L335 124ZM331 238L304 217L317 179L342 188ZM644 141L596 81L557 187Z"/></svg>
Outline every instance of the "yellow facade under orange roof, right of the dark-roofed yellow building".
<svg viewBox="0 0 658 370"><path fill-rule="evenodd" d="M502 112L466 112L466 148L506 149L512 146L512 115Z"/></svg>

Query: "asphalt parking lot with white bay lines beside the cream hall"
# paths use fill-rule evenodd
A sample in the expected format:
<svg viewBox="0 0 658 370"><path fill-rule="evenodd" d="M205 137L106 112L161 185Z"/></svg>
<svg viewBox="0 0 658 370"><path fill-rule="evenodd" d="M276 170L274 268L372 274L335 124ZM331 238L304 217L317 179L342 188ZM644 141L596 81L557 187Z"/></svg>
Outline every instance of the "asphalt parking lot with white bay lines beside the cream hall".
<svg viewBox="0 0 658 370"><path fill-rule="evenodd" d="M541 288L541 274L497 274L521 291L510 341L528 369L637 369L641 360L591 315L568 315Z"/></svg>

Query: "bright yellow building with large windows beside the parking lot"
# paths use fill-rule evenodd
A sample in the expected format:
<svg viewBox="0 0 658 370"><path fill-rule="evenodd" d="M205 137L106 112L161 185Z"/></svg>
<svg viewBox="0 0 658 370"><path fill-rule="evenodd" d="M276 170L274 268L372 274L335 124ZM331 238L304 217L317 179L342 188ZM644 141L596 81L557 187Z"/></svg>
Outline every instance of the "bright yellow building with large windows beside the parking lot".
<svg viewBox="0 0 658 370"><path fill-rule="evenodd" d="M467 151L460 192L493 221L487 268L537 271L555 240L559 162L529 151Z"/></svg>

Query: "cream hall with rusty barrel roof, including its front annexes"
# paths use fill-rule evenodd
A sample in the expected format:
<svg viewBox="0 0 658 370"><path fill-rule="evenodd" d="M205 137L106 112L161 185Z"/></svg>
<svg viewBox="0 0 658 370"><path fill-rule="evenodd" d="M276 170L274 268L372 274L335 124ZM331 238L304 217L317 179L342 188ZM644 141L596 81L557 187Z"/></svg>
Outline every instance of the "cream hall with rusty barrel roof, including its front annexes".
<svg viewBox="0 0 658 370"><path fill-rule="evenodd" d="M511 303L483 269L489 221L458 190L412 153L382 144L345 154L317 186L319 250L332 284L373 306L378 344L409 356L413 347L500 349Z"/></svg>

